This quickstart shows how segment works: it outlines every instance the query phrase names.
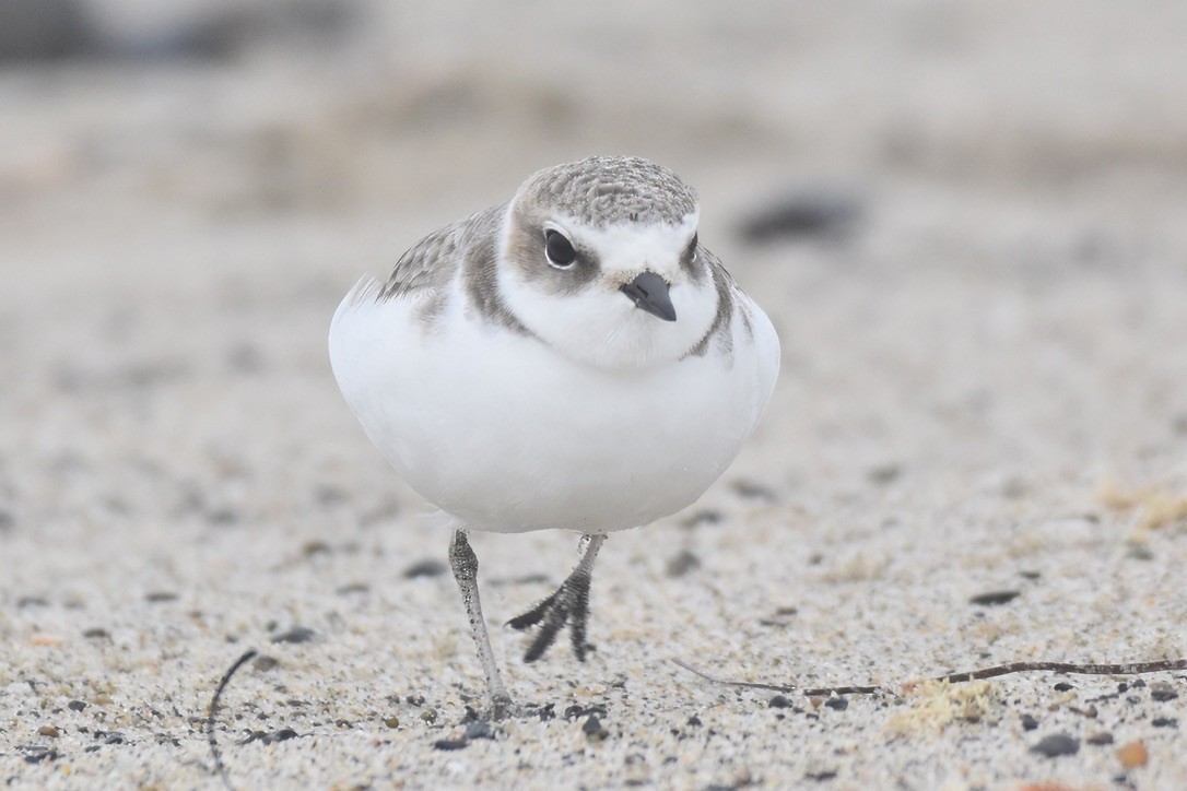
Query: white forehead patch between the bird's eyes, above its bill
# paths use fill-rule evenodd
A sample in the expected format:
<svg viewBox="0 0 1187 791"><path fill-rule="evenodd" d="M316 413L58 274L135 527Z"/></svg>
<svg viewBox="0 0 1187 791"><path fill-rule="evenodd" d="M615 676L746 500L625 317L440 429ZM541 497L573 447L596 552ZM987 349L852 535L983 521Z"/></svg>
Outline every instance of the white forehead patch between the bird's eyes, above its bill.
<svg viewBox="0 0 1187 791"><path fill-rule="evenodd" d="M575 242L591 247L603 274L612 278L621 273L633 278L645 269L674 274L680 268L680 254L697 232L699 219L700 213L693 211L677 224L626 222L591 228L570 218L545 227L554 227Z"/></svg>

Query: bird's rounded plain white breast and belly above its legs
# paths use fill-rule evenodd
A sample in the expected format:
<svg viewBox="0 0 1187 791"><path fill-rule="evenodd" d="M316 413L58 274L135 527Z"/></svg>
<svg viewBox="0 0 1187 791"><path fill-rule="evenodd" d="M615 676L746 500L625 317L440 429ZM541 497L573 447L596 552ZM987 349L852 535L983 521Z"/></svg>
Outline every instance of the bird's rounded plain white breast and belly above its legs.
<svg viewBox="0 0 1187 791"><path fill-rule="evenodd" d="M766 317L774 358L736 327L732 361L640 370L571 362L461 307L426 333L412 310L343 302L334 372L407 483L480 530L608 532L685 508L734 460L777 369Z"/></svg>

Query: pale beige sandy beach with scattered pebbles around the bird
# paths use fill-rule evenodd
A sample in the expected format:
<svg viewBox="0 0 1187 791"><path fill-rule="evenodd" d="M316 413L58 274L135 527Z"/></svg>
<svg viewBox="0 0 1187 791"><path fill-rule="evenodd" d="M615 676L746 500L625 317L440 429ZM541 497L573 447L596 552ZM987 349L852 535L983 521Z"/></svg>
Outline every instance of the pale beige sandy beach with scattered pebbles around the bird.
<svg viewBox="0 0 1187 791"><path fill-rule="evenodd" d="M254 648L243 789L1187 787L1182 671L908 683L1187 656L1185 6L729 6L376 4L336 43L0 66L0 778L217 786L202 719ZM494 629L531 710L466 739L447 535L326 326L602 152L698 187L783 375L702 502L607 543L589 662ZM747 243L788 196L859 211ZM493 626L576 560L474 543Z"/></svg>

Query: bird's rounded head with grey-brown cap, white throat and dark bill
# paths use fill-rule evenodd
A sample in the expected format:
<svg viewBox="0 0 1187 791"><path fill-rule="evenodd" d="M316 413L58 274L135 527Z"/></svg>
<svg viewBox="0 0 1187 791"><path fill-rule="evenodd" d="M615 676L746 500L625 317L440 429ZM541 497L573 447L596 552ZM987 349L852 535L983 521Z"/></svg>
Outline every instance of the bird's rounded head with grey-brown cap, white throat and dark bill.
<svg viewBox="0 0 1187 791"><path fill-rule="evenodd" d="M646 159L533 174L508 204L499 281L515 317L570 358L643 368L686 355L717 312L693 190Z"/></svg>

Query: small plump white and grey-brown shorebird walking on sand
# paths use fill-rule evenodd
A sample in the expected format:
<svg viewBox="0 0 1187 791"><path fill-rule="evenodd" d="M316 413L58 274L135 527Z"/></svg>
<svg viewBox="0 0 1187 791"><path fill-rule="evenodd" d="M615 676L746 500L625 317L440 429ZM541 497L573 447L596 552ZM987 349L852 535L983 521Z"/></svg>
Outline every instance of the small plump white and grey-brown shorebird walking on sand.
<svg viewBox="0 0 1187 791"><path fill-rule="evenodd" d="M580 534L580 560L507 625L534 662L567 626L584 661L607 535L698 499L780 368L766 313L699 241L697 192L639 157L540 170L507 202L364 276L330 325L335 378L396 473L445 517L491 716L514 710L471 530Z"/></svg>

